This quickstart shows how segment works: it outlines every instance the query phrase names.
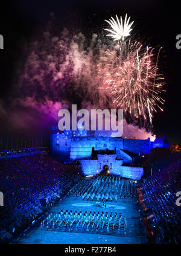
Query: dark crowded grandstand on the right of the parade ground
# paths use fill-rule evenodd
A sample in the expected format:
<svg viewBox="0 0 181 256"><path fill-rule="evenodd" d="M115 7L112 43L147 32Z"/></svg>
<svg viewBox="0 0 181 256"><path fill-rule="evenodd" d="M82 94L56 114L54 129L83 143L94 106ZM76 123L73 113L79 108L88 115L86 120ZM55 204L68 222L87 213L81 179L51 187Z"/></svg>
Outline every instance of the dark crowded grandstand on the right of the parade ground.
<svg viewBox="0 0 181 256"><path fill-rule="evenodd" d="M156 242L181 242L181 208L176 205L176 193L181 188L181 162L177 161L146 179L145 203L153 210L151 224Z"/></svg>

